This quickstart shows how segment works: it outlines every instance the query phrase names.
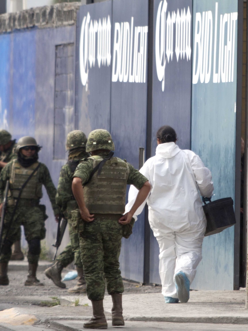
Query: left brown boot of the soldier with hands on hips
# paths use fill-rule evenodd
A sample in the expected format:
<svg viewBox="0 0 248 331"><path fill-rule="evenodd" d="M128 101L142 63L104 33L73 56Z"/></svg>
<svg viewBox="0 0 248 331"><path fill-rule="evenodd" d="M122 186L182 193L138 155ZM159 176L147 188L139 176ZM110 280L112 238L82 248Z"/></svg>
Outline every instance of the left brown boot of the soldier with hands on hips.
<svg viewBox="0 0 248 331"><path fill-rule="evenodd" d="M103 300L91 301L93 316L89 322L84 323L85 329L107 329L107 321L103 312Z"/></svg>

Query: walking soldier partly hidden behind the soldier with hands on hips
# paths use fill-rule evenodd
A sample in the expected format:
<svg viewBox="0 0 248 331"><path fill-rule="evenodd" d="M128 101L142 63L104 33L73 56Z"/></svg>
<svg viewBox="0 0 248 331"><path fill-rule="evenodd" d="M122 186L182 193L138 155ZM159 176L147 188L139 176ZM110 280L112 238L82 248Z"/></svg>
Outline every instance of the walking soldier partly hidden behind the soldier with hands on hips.
<svg viewBox="0 0 248 331"><path fill-rule="evenodd" d="M69 293L85 293L86 284L84 280L83 264L80 256L78 233L72 231L71 211L77 208L77 202L71 189L70 175L75 171L79 161L89 157L86 153L87 137L79 130L71 131L67 135L66 150L69 151L68 162L62 166L60 171L59 185L57 189L56 202L60 206L65 218L68 220L70 242L63 252L56 259L56 263L45 270L45 275L52 279L55 285L65 288L66 285L61 281L61 272L68 264L75 260L78 273L77 284L68 289Z"/></svg>

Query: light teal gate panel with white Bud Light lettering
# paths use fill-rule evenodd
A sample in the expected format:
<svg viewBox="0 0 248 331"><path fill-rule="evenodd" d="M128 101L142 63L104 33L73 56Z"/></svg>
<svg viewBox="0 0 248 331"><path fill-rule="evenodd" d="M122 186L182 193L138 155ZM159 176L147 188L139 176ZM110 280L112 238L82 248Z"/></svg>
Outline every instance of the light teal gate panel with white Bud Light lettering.
<svg viewBox="0 0 248 331"><path fill-rule="evenodd" d="M235 194L237 1L193 1L191 147L211 170L212 200ZM233 289L234 227L206 237L191 287Z"/></svg>

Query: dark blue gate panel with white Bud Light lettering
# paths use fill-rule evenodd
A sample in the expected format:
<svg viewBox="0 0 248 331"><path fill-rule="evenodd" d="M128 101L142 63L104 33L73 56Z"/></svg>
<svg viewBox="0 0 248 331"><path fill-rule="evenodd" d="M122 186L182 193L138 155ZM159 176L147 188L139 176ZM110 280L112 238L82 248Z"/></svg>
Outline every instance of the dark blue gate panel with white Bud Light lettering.
<svg viewBox="0 0 248 331"><path fill-rule="evenodd" d="M113 0L111 134L115 155L139 167L146 143L148 1ZM142 153L142 151L141 151ZM144 279L144 212L122 240L122 276Z"/></svg>

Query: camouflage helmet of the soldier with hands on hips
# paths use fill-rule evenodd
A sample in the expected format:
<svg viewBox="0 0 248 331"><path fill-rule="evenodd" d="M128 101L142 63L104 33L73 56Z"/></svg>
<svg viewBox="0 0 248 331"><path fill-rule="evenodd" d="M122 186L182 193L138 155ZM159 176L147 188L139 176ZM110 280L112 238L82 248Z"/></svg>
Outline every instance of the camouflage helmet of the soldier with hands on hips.
<svg viewBox="0 0 248 331"><path fill-rule="evenodd" d="M91 131L88 136L86 152L97 151L99 149L114 151L114 143L111 134L107 130L97 129Z"/></svg>

